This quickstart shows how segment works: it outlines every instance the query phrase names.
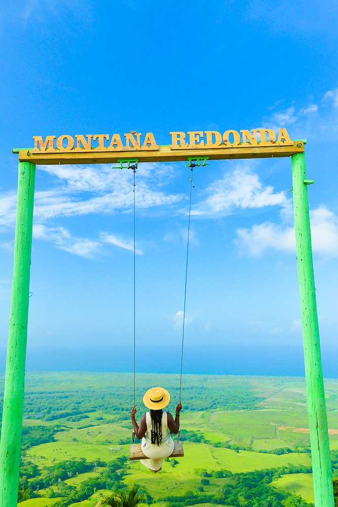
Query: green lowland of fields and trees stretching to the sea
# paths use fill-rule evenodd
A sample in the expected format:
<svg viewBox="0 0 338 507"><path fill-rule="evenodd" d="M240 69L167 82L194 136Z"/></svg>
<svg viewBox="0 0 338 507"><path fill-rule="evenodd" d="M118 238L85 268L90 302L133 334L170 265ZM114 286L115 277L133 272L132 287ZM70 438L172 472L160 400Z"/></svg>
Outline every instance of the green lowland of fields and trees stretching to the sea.
<svg viewBox="0 0 338 507"><path fill-rule="evenodd" d="M34 494L43 496L20 505L52 507L69 492L82 491L83 485L108 474L106 463L129 457L131 380L129 374L27 374L22 455L23 464L33 466L34 471L21 481L33 489L41 479L43 484ZM174 402L176 375L145 374L138 376L140 402L142 392L154 384L166 386ZM325 388L330 443L337 450L338 381L328 381ZM182 431L182 440L188 439L183 442L184 457L176 463L165 461L157 475L128 460L110 475L119 488L138 485L151 495L148 501L156 507L171 505L171 500L161 501L164 498L187 494L196 495L196 504L207 507L215 495L237 484L231 473L241 477L263 470L264 476L267 470L276 469L281 472L276 472L272 485L278 491L311 503L312 476L304 473L305 469L311 472L305 402L304 379L186 375L181 413L181 429L187 430ZM137 408L140 417L142 404ZM174 410L174 403L169 409ZM67 468L67 463L79 458L87 460L85 472L65 470L61 482L53 480L58 466ZM285 467L290 472L283 472ZM207 480L198 469L204 469ZM26 468L22 470L22 476L27 474ZM228 470L230 476L218 477L222 470ZM86 499L68 505L94 507L106 491L98 488ZM52 493L60 496L47 498Z"/></svg>

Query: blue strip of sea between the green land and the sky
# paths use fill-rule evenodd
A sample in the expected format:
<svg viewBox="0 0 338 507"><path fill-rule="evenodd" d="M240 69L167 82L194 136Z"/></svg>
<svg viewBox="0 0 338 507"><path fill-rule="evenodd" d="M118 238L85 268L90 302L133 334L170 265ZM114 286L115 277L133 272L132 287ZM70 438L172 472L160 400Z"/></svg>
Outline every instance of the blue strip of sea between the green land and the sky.
<svg viewBox="0 0 338 507"><path fill-rule="evenodd" d="M323 375L338 378L338 347L322 347ZM5 372L6 349L0 349L0 373ZM133 350L127 346L29 347L26 371L88 371L129 373L133 371ZM148 346L136 351L137 373L180 371L179 350L168 345ZM304 354L301 345L274 344L198 346L184 349L183 374L254 375L304 377Z"/></svg>

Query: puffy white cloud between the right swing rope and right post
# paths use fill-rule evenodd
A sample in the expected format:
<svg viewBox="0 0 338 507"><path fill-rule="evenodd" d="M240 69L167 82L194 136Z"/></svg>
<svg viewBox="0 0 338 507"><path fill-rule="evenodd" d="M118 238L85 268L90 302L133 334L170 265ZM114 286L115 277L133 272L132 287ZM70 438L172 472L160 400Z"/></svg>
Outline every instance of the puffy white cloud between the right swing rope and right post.
<svg viewBox="0 0 338 507"><path fill-rule="evenodd" d="M274 187L264 186L258 174L240 165L209 185L206 194L206 199L193 207L192 215L220 216L230 214L235 208L285 206L287 203L285 192L275 192Z"/></svg>

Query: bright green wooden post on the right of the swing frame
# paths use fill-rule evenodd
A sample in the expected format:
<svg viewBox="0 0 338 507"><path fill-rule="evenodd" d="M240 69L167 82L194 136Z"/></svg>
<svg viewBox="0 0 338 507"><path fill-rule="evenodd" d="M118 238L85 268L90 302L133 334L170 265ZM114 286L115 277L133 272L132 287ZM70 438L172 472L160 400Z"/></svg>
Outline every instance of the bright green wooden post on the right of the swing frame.
<svg viewBox="0 0 338 507"><path fill-rule="evenodd" d="M291 159L315 506L334 507L308 201L308 184L313 182L307 180L305 154Z"/></svg>

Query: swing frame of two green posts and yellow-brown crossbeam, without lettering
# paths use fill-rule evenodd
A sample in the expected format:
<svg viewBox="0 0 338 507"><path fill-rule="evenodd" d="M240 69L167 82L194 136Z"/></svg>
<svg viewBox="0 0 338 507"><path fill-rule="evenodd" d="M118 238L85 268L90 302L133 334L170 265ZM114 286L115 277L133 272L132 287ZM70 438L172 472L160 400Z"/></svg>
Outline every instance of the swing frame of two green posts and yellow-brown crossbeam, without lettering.
<svg viewBox="0 0 338 507"><path fill-rule="evenodd" d="M28 325L29 277L32 241L34 181L36 164L99 164L121 159L138 162L222 160L291 157L294 224L299 294L301 298L307 404L316 507L333 507L332 469L328 440L324 382L321 363L318 315L312 259L304 140L292 146L237 146L157 151L41 152L13 149L19 155L18 201L15 229L13 286L5 373L4 410L0 443L0 505L16 507L24 400L25 357ZM127 162L128 164L128 162ZM120 163L120 166L125 165Z"/></svg>

